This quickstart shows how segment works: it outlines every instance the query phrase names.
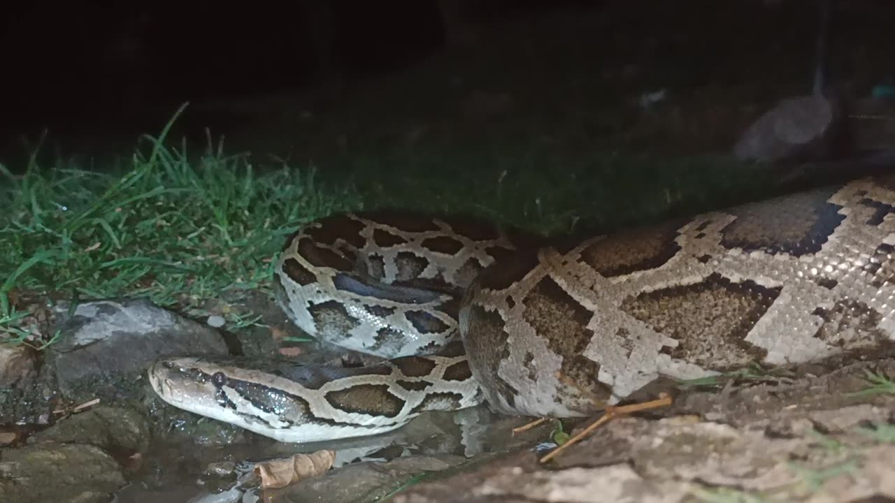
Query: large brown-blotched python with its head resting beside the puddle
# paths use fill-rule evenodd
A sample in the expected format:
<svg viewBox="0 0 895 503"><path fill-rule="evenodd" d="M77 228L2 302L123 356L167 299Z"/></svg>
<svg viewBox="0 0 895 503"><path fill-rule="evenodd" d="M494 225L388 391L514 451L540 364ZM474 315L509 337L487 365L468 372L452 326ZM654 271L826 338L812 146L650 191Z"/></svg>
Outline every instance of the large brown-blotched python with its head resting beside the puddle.
<svg viewBox="0 0 895 503"><path fill-rule="evenodd" d="M286 243L277 300L356 368L172 358L171 405L305 442L483 400L575 417L661 379L885 354L895 175L609 235L541 243L463 217L325 217Z"/></svg>

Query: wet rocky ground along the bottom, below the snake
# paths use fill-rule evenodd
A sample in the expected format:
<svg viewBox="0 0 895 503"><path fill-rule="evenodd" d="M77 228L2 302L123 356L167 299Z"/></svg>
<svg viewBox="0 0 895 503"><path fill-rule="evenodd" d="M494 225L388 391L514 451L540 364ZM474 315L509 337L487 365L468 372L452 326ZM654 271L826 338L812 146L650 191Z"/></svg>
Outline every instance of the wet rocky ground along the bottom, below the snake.
<svg viewBox="0 0 895 503"><path fill-rule="evenodd" d="M138 312L145 307L134 305ZM129 310L100 311L99 318L112 320L136 316ZM142 312L162 313L162 325L192 323L164 310ZM68 327L84 335L91 323ZM158 326L144 320L132 328ZM115 332L107 330L109 337L98 340L141 337L139 331ZM181 344L176 351L186 352ZM67 347L77 353L92 345ZM554 425L514 435L512 429L528 420L499 417L486 407L426 413L399 431L372 438L278 443L161 403L140 379L141 371L115 362L122 349L100 347L107 351L91 353L85 362L96 360L104 370L81 371L67 381L78 383L71 390L82 399L103 396L98 404L72 411L78 402L59 399L65 393L55 389L55 378L66 373L55 364L61 355L70 357L61 350L36 374L4 391L10 407L2 412L15 410L19 421L37 424L38 431L0 448L0 500L362 503L393 493L392 500L403 502L895 499L889 482L895 477L895 395L851 395L869 386L868 371L895 376L895 360L805 366L673 388L672 406L610 422L541 465L543 453L534 448L550 441ZM207 347L224 350L217 343ZM263 353L265 345L252 347ZM107 357L109 362L101 362ZM342 360L342 354L325 352L297 358L317 364ZM90 379L102 381L105 391L83 386ZM110 382L124 391L110 393ZM28 406L17 405L25 396L31 397L22 402ZM62 405L66 412L56 413ZM580 429L584 422L566 423ZM257 477L251 477L253 462L322 448L335 451L336 459L333 469L318 477L279 490L260 490Z"/></svg>

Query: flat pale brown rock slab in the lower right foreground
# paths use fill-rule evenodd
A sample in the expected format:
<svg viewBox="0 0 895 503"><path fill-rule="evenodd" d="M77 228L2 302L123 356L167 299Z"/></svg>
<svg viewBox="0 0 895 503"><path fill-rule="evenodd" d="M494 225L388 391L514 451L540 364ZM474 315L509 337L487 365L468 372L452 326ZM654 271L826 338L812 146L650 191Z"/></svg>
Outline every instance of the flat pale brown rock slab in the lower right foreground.
<svg viewBox="0 0 895 503"><path fill-rule="evenodd" d="M474 471L414 485L394 501L683 503L758 501L771 492L779 497L775 501L792 502L892 498L893 456L895 445L874 445L857 431L824 442L817 433L778 438L755 427L689 418L625 418L549 466L531 452L503 456ZM806 485L809 480L814 482ZM743 494L721 499L724 491Z"/></svg>

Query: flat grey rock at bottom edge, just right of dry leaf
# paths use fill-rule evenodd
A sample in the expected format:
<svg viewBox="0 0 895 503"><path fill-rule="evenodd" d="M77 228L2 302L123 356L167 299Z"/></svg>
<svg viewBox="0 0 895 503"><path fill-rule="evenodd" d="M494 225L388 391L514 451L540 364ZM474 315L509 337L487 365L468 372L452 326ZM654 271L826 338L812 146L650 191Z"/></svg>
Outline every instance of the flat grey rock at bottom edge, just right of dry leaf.
<svg viewBox="0 0 895 503"><path fill-rule="evenodd" d="M413 456L401 457L387 463L358 463L281 490L265 491L265 495L277 501L294 503L373 501L396 490L414 475L445 470L464 461L463 456Z"/></svg>

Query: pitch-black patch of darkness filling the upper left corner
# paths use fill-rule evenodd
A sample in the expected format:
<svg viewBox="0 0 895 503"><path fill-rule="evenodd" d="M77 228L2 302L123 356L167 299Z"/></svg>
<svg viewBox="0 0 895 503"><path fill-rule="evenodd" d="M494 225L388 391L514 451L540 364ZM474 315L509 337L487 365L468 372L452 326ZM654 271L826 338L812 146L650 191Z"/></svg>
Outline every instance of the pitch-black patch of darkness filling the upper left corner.
<svg viewBox="0 0 895 503"><path fill-rule="evenodd" d="M466 14L500 19L599 3L485 0ZM301 90L321 69L348 77L389 72L444 43L432 0L19 3L0 26L7 130L113 120L129 100Z"/></svg>

